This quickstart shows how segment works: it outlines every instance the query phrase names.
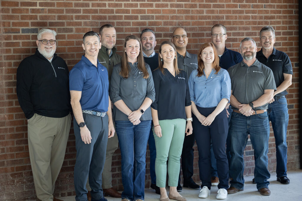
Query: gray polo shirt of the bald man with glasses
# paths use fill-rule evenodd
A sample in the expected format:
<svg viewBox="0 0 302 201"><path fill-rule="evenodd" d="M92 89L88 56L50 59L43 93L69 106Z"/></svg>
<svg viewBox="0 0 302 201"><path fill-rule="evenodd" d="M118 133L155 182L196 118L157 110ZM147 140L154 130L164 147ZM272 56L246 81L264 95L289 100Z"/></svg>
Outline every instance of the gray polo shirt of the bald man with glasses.
<svg viewBox="0 0 302 201"><path fill-rule="evenodd" d="M190 54L186 51L186 55L183 57L177 52L177 65L179 69L182 69L187 73L189 78L192 71L198 68L197 55Z"/></svg>

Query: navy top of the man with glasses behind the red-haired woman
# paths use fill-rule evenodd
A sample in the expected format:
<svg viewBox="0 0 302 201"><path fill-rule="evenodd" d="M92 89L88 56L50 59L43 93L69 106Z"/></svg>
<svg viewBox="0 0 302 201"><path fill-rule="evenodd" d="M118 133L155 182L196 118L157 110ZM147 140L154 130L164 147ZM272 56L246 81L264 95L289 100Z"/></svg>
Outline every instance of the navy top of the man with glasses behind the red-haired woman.
<svg viewBox="0 0 302 201"><path fill-rule="evenodd" d="M224 47L224 52L219 58L219 66L227 70L231 66L240 63L242 60L243 58L239 52Z"/></svg>

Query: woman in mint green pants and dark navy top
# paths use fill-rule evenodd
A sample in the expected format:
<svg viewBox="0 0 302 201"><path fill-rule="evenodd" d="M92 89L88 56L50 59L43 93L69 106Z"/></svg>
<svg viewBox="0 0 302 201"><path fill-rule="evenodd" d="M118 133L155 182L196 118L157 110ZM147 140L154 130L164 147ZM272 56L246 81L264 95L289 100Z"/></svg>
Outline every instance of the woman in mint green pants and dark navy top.
<svg viewBox="0 0 302 201"><path fill-rule="evenodd" d="M172 42L164 41L160 45L159 67L152 74L155 88L151 111L156 146L156 185L160 188L161 201L185 201L176 187L184 137L185 134L192 134L193 130L191 101L188 77L177 67L176 49ZM169 197L165 189L168 158Z"/></svg>

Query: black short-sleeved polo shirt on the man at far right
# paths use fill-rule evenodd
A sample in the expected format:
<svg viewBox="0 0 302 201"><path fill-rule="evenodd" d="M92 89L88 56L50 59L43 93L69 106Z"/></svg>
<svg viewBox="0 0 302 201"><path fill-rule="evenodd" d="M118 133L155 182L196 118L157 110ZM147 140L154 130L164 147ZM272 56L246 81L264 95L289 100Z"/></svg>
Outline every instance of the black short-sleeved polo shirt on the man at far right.
<svg viewBox="0 0 302 201"><path fill-rule="evenodd" d="M291 75L293 74L293 67L291 66L291 60L289 59L288 55L284 52L276 50L275 48L273 49L273 53L271 53L268 58L263 55L261 48L261 50L257 52L256 58L273 71L277 87L284 81L283 73ZM283 96L287 94L287 91L284 90L276 94L276 96Z"/></svg>

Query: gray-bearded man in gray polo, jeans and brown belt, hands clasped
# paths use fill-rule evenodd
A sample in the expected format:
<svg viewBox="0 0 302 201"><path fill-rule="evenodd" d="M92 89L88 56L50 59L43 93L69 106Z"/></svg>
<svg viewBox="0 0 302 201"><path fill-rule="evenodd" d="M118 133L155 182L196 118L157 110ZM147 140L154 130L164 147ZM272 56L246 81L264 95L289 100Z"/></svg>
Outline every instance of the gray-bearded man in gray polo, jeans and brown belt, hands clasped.
<svg viewBox="0 0 302 201"><path fill-rule="evenodd" d="M243 61L228 69L231 78L232 117L229 135L231 139L231 159L228 194L243 191L244 159L243 150L248 135L255 151L255 182L261 195L270 195L268 189L268 102L276 90L273 72L256 59L257 46L252 38L240 43Z"/></svg>

